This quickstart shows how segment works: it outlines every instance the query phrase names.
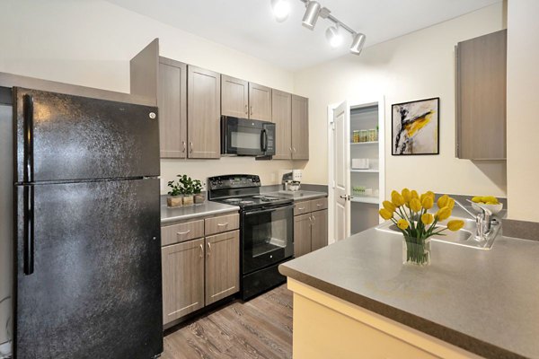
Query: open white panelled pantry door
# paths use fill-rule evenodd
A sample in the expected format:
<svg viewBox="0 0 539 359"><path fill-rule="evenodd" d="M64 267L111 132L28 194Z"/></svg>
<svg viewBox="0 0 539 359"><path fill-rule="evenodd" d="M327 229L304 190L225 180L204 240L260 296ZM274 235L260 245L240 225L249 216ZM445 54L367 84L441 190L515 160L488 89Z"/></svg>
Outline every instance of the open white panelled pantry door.
<svg viewBox="0 0 539 359"><path fill-rule="evenodd" d="M342 102L333 109L333 193L334 239L350 235L350 109Z"/></svg>

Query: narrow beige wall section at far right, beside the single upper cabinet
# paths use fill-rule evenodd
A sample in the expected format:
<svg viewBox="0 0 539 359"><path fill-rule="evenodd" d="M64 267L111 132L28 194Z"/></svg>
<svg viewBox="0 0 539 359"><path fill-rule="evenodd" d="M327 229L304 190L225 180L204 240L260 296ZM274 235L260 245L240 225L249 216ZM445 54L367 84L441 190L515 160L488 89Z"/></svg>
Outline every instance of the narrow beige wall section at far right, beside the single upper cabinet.
<svg viewBox="0 0 539 359"><path fill-rule="evenodd" d="M508 1L508 216L539 222L539 1Z"/></svg>

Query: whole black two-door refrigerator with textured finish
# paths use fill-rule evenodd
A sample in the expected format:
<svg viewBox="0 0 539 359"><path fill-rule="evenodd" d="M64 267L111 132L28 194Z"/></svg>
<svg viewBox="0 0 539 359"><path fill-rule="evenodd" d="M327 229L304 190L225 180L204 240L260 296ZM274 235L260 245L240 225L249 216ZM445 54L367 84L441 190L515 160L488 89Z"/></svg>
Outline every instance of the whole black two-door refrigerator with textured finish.
<svg viewBox="0 0 539 359"><path fill-rule="evenodd" d="M14 356L163 352L157 109L13 88Z"/></svg>

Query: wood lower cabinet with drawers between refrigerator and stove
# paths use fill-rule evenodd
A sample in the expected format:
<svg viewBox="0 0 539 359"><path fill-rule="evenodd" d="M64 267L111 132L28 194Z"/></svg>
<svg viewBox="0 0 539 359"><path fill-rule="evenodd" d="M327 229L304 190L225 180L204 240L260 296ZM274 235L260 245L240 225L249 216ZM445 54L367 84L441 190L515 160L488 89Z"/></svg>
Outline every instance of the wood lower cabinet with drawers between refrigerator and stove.
<svg viewBox="0 0 539 359"><path fill-rule="evenodd" d="M163 325L240 290L238 216L163 225Z"/></svg>

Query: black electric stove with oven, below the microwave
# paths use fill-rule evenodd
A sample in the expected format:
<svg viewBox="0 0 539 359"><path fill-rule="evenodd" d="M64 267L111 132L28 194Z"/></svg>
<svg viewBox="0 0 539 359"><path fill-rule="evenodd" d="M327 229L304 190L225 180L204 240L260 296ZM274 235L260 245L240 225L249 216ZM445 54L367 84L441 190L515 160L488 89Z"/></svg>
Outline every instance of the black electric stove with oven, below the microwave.
<svg viewBox="0 0 539 359"><path fill-rule="evenodd" d="M294 205L289 197L260 193L257 175L208 178L208 199L240 207L243 300L286 282L278 265L294 255Z"/></svg>

